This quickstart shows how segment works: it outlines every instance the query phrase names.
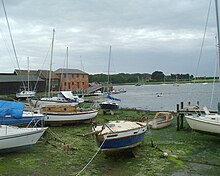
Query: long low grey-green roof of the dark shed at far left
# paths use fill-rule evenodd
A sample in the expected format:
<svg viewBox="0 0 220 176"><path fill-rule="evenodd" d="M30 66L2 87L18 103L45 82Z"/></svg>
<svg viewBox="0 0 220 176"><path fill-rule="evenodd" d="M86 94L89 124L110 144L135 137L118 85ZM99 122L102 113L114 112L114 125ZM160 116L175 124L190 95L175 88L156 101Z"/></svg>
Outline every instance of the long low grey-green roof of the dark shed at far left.
<svg viewBox="0 0 220 176"><path fill-rule="evenodd" d="M0 74L0 82L3 83L3 82L22 82L22 81L25 81L27 82L28 81L28 76L27 75L5 75L5 74ZM43 81L42 79L38 78L38 76L36 75L30 75L29 76L29 81L32 82L32 81Z"/></svg>

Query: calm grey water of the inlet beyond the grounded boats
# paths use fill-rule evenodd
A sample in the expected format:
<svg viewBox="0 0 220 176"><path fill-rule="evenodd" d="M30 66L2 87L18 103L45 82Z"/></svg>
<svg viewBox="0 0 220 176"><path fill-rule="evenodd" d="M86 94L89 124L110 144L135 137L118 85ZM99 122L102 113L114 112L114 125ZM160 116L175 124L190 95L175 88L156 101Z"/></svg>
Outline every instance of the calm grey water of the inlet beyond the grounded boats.
<svg viewBox="0 0 220 176"><path fill-rule="evenodd" d="M214 89L213 89L214 87ZM124 88L126 93L115 94L114 97L120 98L120 107L137 108L152 111L176 111L176 105L180 102L196 105L199 101L201 107L207 106L217 110L220 102L220 83L189 83L174 86L165 85L124 85L114 86L115 89ZM212 98L212 90L213 98ZM157 97L157 93L162 93L162 97ZM211 101L211 99L213 99Z"/></svg>

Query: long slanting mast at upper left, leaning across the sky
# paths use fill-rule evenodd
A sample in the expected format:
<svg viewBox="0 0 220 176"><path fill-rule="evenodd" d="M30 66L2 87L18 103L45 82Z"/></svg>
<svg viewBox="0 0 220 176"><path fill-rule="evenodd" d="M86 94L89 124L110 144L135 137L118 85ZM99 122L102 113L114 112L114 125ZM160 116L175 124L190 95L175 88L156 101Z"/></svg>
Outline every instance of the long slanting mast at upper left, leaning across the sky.
<svg viewBox="0 0 220 176"><path fill-rule="evenodd" d="M13 42L13 38L12 38L12 34L11 34L11 29L10 29L10 25L9 25L9 21L8 21L8 16L7 16L7 13L6 13L5 4L4 4L3 0L2 0L2 6L3 6L3 9L4 9L4 14L5 14L5 18L6 18L6 22L7 22L7 26L8 26L8 31L9 31L9 35L10 35L11 44L12 44L12 47L13 47L15 59L16 59L16 62L17 62L18 69L20 71L21 69L20 69L20 65L19 65L19 62L18 62L18 57L17 57L17 53L16 53L16 50L15 50L15 45L14 45L14 42ZM17 73L17 71L16 71L16 73ZM21 75L21 71L20 71L20 75ZM21 81L22 81L24 89L26 90L26 87L25 87L24 80L23 80L22 76L21 76Z"/></svg>

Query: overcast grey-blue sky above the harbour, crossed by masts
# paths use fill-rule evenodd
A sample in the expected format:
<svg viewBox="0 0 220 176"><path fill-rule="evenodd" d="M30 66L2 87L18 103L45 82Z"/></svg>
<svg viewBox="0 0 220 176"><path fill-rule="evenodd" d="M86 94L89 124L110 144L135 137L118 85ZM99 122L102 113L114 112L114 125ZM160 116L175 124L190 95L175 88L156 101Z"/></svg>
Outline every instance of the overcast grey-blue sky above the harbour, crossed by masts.
<svg viewBox="0 0 220 176"><path fill-rule="evenodd" d="M209 0L4 0L21 69L66 67L89 74L190 73L213 76L216 20ZM3 6L0 8L0 72L18 68Z"/></svg>

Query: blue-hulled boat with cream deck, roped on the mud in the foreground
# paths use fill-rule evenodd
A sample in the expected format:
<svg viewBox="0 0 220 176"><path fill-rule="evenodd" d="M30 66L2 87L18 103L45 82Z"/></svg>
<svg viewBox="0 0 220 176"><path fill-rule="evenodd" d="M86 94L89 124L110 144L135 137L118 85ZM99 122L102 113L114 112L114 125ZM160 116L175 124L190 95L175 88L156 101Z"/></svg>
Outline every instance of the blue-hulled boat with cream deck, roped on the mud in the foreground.
<svg viewBox="0 0 220 176"><path fill-rule="evenodd" d="M131 149L141 144L147 131L146 122L111 121L92 127L102 151Z"/></svg>

